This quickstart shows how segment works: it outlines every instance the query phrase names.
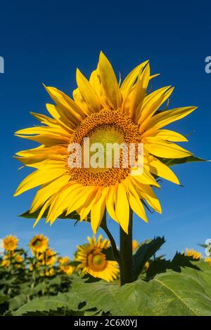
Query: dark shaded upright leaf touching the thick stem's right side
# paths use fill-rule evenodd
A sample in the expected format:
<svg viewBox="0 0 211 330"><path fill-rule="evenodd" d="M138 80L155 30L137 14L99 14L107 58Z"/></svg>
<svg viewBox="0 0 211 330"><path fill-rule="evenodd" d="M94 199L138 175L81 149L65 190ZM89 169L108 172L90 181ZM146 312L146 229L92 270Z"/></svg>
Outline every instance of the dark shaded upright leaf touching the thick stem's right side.
<svg viewBox="0 0 211 330"><path fill-rule="evenodd" d="M134 254L135 278L137 278L146 262L160 249L165 243L164 237L155 237L154 239L143 242Z"/></svg>

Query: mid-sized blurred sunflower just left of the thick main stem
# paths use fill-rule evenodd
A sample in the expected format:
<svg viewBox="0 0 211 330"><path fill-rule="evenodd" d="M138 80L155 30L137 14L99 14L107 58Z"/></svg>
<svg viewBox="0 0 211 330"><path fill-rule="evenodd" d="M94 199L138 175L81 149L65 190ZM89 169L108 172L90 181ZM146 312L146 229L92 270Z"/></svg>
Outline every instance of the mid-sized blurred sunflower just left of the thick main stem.
<svg viewBox="0 0 211 330"><path fill-rule="evenodd" d="M112 282L119 276L118 264L116 261L106 260L102 249L108 249L110 241L103 239L102 235L96 238L87 237L89 244L78 246L76 261L79 261L78 269L83 273L89 273L93 277L105 279Z"/></svg>

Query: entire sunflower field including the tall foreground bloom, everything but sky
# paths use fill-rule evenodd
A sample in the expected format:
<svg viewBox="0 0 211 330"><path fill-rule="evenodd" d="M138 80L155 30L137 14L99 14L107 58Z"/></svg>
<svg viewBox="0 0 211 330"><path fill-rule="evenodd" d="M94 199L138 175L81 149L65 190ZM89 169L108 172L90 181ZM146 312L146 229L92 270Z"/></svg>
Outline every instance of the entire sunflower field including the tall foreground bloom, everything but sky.
<svg viewBox="0 0 211 330"><path fill-rule="evenodd" d="M162 213L155 194L162 180L181 185L172 166L205 161L177 144L186 136L166 128L197 107L170 109L174 88L152 91L155 77L145 61L117 79L101 52L89 79L77 69L72 97L44 86L52 99L48 115L32 112L39 126L15 132L38 146L15 154L32 173L14 196L37 188L23 218L34 226L41 219L84 221L93 237L71 260L42 234L29 251L17 237L4 237L1 315L211 315L211 253L203 258L186 249L169 260L159 251L164 237L133 239L134 214L148 223L148 214ZM108 218L119 226L120 242Z"/></svg>

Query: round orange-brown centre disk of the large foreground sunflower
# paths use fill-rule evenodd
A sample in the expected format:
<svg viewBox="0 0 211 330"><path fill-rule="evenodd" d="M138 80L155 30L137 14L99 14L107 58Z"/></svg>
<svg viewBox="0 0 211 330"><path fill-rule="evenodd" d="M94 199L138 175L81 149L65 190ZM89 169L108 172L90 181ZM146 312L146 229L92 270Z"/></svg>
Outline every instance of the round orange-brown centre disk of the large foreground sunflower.
<svg viewBox="0 0 211 330"><path fill-rule="evenodd" d="M75 152L75 148L68 149L68 160L75 157L77 163L74 167L68 161L72 180L82 185L120 183L130 172L129 146L139 142L138 127L122 111L103 109L91 114L78 126L70 142L70 146L81 147L81 154L78 150Z"/></svg>

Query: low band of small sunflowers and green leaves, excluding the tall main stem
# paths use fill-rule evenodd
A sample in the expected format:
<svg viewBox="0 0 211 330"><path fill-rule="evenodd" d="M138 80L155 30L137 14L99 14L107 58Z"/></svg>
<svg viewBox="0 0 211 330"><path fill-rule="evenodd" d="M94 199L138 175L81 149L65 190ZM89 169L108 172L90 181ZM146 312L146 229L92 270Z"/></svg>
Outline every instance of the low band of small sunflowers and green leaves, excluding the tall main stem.
<svg viewBox="0 0 211 330"><path fill-rule="evenodd" d="M15 236L5 237L1 315L210 315L211 258L186 249L166 260L156 253L163 237L133 241L136 280L120 286L110 241L87 239L70 260L53 251L44 235L30 240L30 253Z"/></svg>

